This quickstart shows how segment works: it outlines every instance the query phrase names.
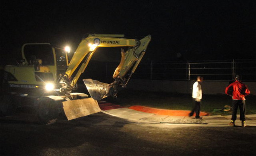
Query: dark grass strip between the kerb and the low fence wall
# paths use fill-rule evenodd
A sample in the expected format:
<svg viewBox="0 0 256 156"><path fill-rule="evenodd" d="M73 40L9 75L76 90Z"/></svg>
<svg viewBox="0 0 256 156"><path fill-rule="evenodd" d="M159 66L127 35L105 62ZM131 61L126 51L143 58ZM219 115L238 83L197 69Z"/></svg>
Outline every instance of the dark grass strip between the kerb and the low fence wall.
<svg viewBox="0 0 256 156"><path fill-rule="evenodd" d="M130 89L122 89L119 91L116 99L108 97L106 100L125 107L142 105L172 110L192 110L195 103L192 101L190 94L135 91ZM211 115L231 115L231 111L213 112L214 109L224 108L225 105L230 105L232 107L232 99L230 96L203 95L201 111ZM256 114L256 96L249 95L246 97L246 114Z"/></svg>

